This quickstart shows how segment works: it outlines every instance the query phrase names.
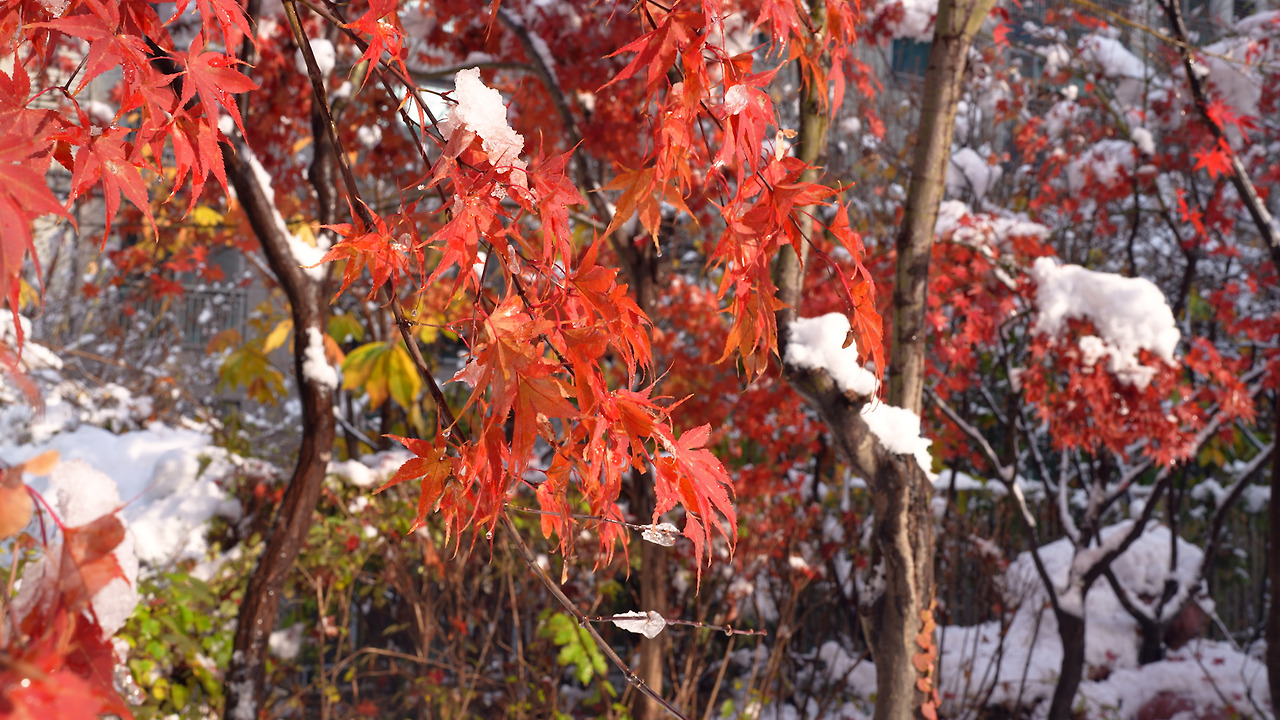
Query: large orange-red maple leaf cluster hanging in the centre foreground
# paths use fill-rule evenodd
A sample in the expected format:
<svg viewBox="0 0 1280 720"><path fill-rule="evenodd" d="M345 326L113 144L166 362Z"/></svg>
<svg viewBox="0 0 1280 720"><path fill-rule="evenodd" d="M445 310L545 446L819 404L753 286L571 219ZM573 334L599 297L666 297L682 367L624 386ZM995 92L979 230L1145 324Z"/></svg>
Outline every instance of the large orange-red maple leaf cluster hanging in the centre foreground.
<svg viewBox="0 0 1280 720"><path fill-rule="evenodd" d="M433 12L438 23L454 23L454 36L460 23L480 22L454 14L449 5ZM829 111L841 101L844 68L855 67L846 44L856 12L849 4L828 4L819 19L829 32L817 36L820 41L813 40L815 20L796 12L794 4L767 4L758 23L792 58L809 58L806 82L828 82L813 56L837 56L833 67L841 69ZM436 292L443 286L452 299L470 299L445 320L468 346L466 365L452 379L470 392L458 407L438 413L434 439L399 438L416 459L388 483L421 480L415 525L439 511L451 533L472 524L492 527L512 493L526 486L539 501L544 532L558 537L563 551L571 551L577 536L577 514L593 518L602 546L612 553L626 520L617 506L625 475L641 473L652 475L657 491L653 521L684 510L684 533L699 565L713 538L732 543L736 536L728 471L707 448L712 430L675 429L672 411L681 402L657 397L646 380L655 377L653 323L618 270L600 256L621 252L614 243L632 217L634 242L652 242L659 251L672 210L723 228L719 237L709 237L707 252L719 286L713 305L730 310L718 360L727 368L740 360L755 377L777 352L774 316L781 305L771 263L783 246L803 250L813 243L796 215L829 204L835 191L790 155L787 137L794 133L785 132L765 92L776 70L755 70L755 53L726 50L723 17L692 5L669 12L643 6L636 15L648 32L614 53L631 59L596 90L598 96L652 97L662 108L657 119L640 124L632 142L599 147L593 123L584 126L584 147L526 160L511 154L508 140L497 145L497 135L486 135L509 131L472 131L468 115L460 111L463 119L451 119L440 128L444 135L431 140L439 158L403 188L425 193L424 200L370 223L333 227L340 238L325 260L344 261L343 291L362 283L367 268L371 283L361 286L371 293ZM379 32L396 29L384 24ZM589 72L584 67L593 65L557 59L550 70L561 86L571 86L580 81L575 73ZM480 91L476 77L467 76L467 94ZM457 83L461 96L462 73ZM516 92L520 127L539 105L526 91ZM609 102L616 105L625 106ZM717 129L709 138L712 127ZM636 142L644 152L625 150ZM503 150L495 150L499 146ZM590 205L573 176L573 152L585 151L612 160L616 170L598 191L616 197L603 236L588 241L571 223L576 208ZM433 193L439 204L426 200ZM721 201L712 201L717 196ZM860 263L861 240L847 211L837 208L833 217L823 229L852 261L840 265L824 251L817 256L840 281L836 287L855 318L858 342L883 368L881 320L874 284ZM828 247L826 240L822 245Z"/></svg>

